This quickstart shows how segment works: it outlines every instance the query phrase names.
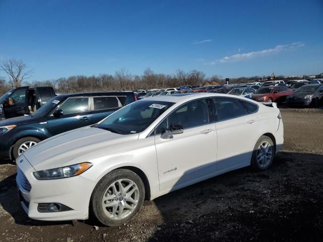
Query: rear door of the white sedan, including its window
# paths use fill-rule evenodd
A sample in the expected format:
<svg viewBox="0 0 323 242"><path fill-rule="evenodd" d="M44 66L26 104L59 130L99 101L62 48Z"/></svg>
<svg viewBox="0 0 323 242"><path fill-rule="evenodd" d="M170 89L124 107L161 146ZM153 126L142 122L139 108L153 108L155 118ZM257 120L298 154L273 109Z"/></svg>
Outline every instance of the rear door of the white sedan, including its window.
<svg viewBox="0 0 323 242"><path fill-rule="evenodd" d="M248 164L258 135L258 118L239 99L228 97L212 98L217 111L218 170Z"/></svg>

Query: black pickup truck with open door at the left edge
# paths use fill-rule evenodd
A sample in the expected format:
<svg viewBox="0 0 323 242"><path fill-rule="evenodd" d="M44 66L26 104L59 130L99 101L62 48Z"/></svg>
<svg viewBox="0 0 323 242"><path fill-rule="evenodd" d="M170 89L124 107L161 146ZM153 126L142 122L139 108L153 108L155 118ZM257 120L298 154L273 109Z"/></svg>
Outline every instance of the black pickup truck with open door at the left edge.
<svg viewBox="0 0 323 242"><path fill-rule="evenodd" d="M55 97L52 87L18 87L0 97L0 120L32 114L51 98Z"/></svg>

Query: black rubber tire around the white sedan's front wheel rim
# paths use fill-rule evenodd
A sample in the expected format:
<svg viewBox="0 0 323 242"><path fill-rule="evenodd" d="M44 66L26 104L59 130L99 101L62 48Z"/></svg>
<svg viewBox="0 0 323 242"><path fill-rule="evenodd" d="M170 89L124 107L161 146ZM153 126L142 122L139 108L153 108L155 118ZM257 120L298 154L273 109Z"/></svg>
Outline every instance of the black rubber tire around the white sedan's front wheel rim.
<svg viewBox="0 0 323 242"><path fill-rule="evenodd" d="M134 183L137 185L139 190L139 199L138 199L137 207L134 209L134 211L131 214L129 214L127 217L125 217L122 220L114 220L109 218L107 215L105 215L102 207L102 199L106 189L108 189L109 186L114 183L114 181L117 181L119 179L130 179L134 181ZM90 209L91 209L92 215L94 215L96 219L102 224L106 226L111 226L111 227L119 226L121 224L129 222L137 215L137 213L139 212L140 208L143 205L144 199L145 199L145 187L141 178L131 170L117 169L106 174L104 177L102 177L99 180L91 196Z"/></svg>

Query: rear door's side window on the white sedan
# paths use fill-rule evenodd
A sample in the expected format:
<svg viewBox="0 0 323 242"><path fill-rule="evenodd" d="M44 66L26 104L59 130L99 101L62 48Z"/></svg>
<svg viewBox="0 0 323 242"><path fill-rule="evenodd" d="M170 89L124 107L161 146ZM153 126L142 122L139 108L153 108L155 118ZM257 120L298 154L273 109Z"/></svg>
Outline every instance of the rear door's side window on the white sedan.
<svg viewBox="0 0 323 242"><path fill-rule="evenodd" d="M218 120L235 118L247 114L246 108L234 98L212 98L216 106Z"/></svg>

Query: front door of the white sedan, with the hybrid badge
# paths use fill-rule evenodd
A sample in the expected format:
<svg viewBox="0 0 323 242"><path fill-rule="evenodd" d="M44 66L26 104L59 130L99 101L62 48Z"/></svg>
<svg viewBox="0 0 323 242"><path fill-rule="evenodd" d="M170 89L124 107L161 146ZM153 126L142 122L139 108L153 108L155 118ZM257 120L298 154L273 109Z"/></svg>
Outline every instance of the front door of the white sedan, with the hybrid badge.
<svg viewBox="0 0 323 242"><path fill-rule="evenodd" d="M183 133L163 139L170 125L183 126ZM160 190L216 171L217 133L209 120L205 99L190 101L175 109L155 130Z"/></svg>

